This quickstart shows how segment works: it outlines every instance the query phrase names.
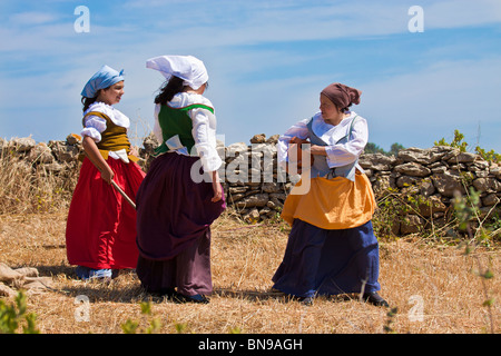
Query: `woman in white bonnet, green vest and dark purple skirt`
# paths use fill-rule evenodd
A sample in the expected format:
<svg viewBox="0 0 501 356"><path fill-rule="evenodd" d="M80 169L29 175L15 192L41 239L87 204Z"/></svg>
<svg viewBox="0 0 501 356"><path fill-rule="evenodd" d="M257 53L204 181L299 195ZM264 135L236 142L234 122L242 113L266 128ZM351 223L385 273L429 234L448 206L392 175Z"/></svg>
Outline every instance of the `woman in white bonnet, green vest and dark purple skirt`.
<svg viewBox="0 0 501 356"><path fill-rule="evenodd" d="M208 303L210 224L226 206L216 117L203 96L207 70L191 56L160 56L146 66L166 82L155 98L154 132L161 144L136 197L137 275L151 294Z"/></svg>

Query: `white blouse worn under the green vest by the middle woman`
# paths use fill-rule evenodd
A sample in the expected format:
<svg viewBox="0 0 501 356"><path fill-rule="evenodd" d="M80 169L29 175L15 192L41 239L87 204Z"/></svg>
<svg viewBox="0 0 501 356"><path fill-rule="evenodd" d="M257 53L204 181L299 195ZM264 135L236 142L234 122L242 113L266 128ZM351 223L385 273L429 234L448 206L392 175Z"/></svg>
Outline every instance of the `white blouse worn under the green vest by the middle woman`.
<svg viewBox="0 0 501 356"><path fill-rule="evenodd" d="M207 98L189 92L178 92L174 96L173 100L168 102L168 105L173 108L184 108L194 103L202 103L214 108L213 103ZM161 106L159 103L155 106L154 134L155 137L161 142L164 138L161 135L160 123L158 121L160 108ZM191 109L188 111L188 115L193 121L191 135L195 140L197 152L200 156L202 167L205 172L215 171L223 164L223 160L216 150L216 116L209 110L203 108ZM179 155L189 155L186 147L179 147L171 149L170 151L175 151Z"/></svg>

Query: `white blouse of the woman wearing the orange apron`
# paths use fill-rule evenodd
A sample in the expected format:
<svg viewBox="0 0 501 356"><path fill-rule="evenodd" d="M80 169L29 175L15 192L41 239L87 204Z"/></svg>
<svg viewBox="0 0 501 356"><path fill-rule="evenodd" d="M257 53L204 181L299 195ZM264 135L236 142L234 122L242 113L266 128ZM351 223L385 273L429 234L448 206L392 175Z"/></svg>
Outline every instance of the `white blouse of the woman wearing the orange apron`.
<svg viewBox="0 0 501 356"><path fill-rule="evenodd" d="M342 167L354 162L363 152L369 140L367 121L358 116L354 122L351 139L344 144L336 144L348 134L352 119L356 112L351 111L350 116L344 118L338 125L326 123L318 111L313 116L312 129L316 136L322 138L328 146L325 147L327 154L326 160L330 168ZM288 142L295 136L301 139L310 138L310 131L306 125L311 119L305 119L292 126L278 139L278 164L285 167L288 161Z"/></svg>

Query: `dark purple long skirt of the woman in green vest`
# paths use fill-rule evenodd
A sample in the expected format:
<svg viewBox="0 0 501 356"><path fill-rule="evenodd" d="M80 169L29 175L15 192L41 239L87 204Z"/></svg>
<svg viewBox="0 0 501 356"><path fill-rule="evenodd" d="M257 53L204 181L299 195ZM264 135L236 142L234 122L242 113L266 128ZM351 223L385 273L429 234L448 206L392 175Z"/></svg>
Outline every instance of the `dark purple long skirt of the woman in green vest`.
<svg viewBox="0 0 501 356"><path fill-rule="evenodd" d="M149 291L177 287L187 296L212 291L210 224L226 205L210 201L212 182L191 179L196 157L165 154L136 196L137 275Z"/></svg>

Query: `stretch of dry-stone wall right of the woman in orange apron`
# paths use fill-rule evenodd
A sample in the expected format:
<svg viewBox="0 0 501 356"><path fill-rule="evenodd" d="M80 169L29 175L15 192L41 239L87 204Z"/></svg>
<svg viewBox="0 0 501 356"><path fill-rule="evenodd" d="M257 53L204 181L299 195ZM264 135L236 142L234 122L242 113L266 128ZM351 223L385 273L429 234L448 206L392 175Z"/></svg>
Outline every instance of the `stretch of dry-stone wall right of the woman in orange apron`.
<svg viewBox="0 0 501 356"><path fill-rule="evenodd" d="M453 219L456 195L480 192L480 218L492 220L501 211L501 168L479 155L435 146L407 148L397 157L363 155L361 166L369 176L381 210L391 201L395 208L394 235L448 227ZM444 233L448 233L444 230Z"/></svg>

